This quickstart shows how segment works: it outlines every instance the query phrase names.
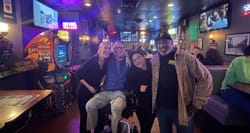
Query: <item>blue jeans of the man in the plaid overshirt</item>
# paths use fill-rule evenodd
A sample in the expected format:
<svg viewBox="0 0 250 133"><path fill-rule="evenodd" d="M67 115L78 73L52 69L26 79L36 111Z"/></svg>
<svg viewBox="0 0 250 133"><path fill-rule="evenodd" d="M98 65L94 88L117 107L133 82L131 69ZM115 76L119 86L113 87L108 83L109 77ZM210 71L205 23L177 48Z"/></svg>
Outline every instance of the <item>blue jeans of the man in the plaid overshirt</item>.
<svg viewBox="0 0 250 133"><path fill-rule="evenodd" d="M179 125L178 111L166 108L157 108L156 116L158 118L160 133L172 133L172 125L175 124L177 133L193 133L193 118L188 126Z"/></svg>

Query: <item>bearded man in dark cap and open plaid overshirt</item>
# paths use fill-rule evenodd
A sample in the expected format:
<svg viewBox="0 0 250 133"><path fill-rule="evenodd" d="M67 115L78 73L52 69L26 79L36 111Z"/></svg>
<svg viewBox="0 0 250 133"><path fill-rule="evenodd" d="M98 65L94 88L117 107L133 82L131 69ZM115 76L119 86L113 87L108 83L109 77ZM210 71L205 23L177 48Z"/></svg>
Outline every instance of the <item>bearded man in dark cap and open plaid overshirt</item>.
<svg viewBox="0 0 250 133"><path fill-rule="evenodd" d="M164 33L156 40L158 53L152 63L152 108L156 111L161 133L191 133L192 117L212 93L212 77L198 59L173 48Z"/></svg>

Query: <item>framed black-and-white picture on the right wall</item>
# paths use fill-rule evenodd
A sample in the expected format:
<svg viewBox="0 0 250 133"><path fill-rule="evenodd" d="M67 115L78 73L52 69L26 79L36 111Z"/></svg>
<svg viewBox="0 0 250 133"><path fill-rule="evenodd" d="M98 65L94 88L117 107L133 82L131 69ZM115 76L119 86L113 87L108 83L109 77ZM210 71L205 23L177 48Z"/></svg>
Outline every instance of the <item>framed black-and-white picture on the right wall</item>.
<svg viewBox="0 0 250 133"><path fill-rule="evenodd" d="M225 55L243 55L243 50L249 45L250 33L226 35Z"/></svg>

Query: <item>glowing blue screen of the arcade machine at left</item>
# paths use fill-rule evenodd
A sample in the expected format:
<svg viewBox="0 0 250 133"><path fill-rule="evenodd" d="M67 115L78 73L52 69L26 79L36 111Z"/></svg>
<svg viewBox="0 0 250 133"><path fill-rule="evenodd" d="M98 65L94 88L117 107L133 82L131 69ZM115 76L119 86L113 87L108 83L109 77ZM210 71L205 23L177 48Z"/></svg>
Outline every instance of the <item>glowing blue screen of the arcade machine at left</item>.
<svg viewBox="0 0 250 133"><path fill-rule="evenodd" d="M57 46L57 61L59 63L68 62L68 55L67 55L67 46L66 45L58 45Z"/></svg>

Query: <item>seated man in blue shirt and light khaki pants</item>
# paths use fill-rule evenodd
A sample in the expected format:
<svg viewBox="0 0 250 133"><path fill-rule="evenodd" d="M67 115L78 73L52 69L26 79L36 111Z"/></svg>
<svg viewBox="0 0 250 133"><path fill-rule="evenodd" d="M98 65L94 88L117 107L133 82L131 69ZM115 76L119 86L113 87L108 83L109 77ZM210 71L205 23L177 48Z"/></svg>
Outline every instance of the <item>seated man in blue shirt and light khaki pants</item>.
<svg viewBox="0 0 250 133"><path fill-rule="evenodd" d="M103 91L92 97L86 104L87 130L94 133L97 126L98 110L111 104L111 131L117 133L118 123L123 109L126 107L126 97L123 94L128 66L124 44L116 42L110 55L105 75Z"/></svg>

